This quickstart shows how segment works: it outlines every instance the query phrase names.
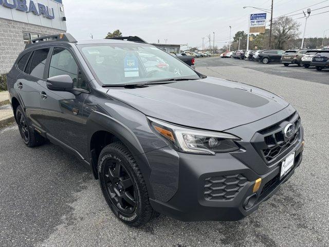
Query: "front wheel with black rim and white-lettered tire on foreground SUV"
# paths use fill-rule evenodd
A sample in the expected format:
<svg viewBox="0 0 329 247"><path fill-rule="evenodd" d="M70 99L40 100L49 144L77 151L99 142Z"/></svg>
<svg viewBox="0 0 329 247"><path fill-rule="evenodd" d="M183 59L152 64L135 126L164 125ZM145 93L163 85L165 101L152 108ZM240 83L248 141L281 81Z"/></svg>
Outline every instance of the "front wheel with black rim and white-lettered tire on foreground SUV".
<svg viewBox="0 0 329 247"><path fill-rule="evenodd" d="M139 167L121 142L109 144L101 151L98 177L109 208L125 224L140 226L157 215Z"/></svg>

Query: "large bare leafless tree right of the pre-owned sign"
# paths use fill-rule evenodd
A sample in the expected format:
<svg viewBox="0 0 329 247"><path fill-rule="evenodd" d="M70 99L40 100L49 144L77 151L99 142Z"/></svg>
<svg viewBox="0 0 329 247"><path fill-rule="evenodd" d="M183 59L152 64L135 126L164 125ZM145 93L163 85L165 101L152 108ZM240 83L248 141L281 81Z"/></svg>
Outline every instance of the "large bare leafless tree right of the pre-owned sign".
<svg viewBox="0 0 329 247"><path fill-rule="evenodd" d="M297 38L300 24L291 17L282 16L273 22L272 33L276 49L286 49L287 43Z"/></svg>

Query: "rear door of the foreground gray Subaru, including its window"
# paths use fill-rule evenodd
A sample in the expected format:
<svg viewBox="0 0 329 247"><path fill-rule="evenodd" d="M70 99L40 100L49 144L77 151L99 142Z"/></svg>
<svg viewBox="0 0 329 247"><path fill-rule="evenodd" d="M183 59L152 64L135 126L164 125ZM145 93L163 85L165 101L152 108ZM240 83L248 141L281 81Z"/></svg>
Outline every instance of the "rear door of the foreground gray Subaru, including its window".
<svg viewBox="0 0 329 247"><path fill-rule="evenodd" d="M17 64L22 73L17 77L14 88L19 93L25 107L25 113L34 126L39 126L40 115L40 83L43 82L43 74L49 48L36 49L30 52L28 63L24 66L23 61ZM21 60L20 60L21 62Z"/></svg>

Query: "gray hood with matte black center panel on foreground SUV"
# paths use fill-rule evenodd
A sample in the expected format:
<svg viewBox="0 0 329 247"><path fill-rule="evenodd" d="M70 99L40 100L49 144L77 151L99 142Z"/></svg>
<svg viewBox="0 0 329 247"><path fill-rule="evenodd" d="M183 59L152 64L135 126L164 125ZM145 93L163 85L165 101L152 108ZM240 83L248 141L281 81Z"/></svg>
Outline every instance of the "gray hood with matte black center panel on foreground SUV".
<svg viewBox="0 0 329 247"><path fill-rule="evenodd" d="M107 94L145 115L215 131L257 121L288 106L265 90L211 77L137 89L110 88Z"/></svg>

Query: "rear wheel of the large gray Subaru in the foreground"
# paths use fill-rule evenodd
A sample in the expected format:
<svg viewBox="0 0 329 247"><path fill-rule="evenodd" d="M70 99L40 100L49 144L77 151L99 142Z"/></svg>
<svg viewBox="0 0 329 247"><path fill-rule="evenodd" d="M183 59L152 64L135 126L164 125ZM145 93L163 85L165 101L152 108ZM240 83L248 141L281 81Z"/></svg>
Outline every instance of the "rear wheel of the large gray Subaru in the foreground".
<svg viewBox="0 0 329 247"><path fill-rule="evenodd" d="M26 146L33 148L45 142L45 138L29 126L28 119L21 105L16 109L16 123L19 126L20 134Z"/></svg>

